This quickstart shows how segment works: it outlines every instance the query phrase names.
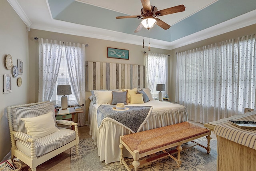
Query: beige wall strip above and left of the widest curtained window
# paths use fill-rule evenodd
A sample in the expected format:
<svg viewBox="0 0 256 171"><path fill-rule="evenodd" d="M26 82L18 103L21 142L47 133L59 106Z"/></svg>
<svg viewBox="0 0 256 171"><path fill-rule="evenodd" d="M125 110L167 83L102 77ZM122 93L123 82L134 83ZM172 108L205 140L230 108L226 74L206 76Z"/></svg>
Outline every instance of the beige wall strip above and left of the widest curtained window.
<svg viewBox="0 0 256 171"><path fill-rule="evenodd" d="M229 39L237 39L238 37L242 37L242 36L247 36L248 34L256 34L256 24L253 24L251 26L247 26L238 30L234 30L232 32L228 32L225 34L221 34L206 40L202 40L200 42L196 42L193 44L189 44L187 46L183 46L180 48L176 48L174 50L170 51L170 78L169 78L169 94L171 94L171 99L174 101L175 100L175 88L176 88L176 65L177 65L177 61L176 61L176 52L184 52L186 50L190 50L190 49L194 49L194 48L199 48L199 47L203 47L206 45L210 45L213 43L217 43L217 42L222 42L225 40L229 40ZM169 95L170 97L170 95Z"/></svg>

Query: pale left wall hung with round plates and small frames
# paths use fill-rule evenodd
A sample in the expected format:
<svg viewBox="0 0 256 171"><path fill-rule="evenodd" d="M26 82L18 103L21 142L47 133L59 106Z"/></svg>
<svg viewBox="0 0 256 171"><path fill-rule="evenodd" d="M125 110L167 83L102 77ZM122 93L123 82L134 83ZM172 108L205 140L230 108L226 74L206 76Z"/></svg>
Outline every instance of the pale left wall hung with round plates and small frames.
<svg viewBox="0 0 256 171"><path fill-rule="evenodd" d="M7 0L0 0L0 161L11 149L10 131L6 114L6 107L28 103L28 32L26 25L16 14ZM3 74L11 74L4 65L6 55L12 56L13 65L22 59L24 64L22 85L18 87L17 78L12 77L12 92L3 93Z"/></svg>

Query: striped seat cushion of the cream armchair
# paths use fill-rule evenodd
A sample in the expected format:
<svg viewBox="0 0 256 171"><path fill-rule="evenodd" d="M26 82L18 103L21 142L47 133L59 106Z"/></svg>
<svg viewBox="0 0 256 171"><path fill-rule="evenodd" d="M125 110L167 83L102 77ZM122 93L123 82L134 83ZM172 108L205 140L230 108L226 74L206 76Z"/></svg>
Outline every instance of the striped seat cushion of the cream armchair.
<svg viewBox="0 0 256 171"><path fill-rule="evenodd" d="M76 139L76 132L72 129L58 127L60 131L46 135L42 138L35 139L36 157L49 153L74 139ZM16 141L17 148L31 157L31 144L18 140Z"/></svg>

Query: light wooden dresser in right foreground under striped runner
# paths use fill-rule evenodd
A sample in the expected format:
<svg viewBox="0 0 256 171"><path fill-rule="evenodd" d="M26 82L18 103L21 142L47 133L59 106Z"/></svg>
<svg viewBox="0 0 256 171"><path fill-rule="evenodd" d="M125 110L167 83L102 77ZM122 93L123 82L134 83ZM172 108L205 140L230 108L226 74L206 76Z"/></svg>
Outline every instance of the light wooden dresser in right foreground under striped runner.
<svg viewBox="0 0 256 171"><path fill-rule="evenodd" d="M241 120L244 117L256 115L256 111L234 115L229 118L205 123L204 126L214 131L218 124L228 120ZM256 150L230 141L226 138L217 137L217 170L218 171L255 171L256 170ZM238 137L242 138L242 137ZM255 142L256 143L256 142Z"/></svg>

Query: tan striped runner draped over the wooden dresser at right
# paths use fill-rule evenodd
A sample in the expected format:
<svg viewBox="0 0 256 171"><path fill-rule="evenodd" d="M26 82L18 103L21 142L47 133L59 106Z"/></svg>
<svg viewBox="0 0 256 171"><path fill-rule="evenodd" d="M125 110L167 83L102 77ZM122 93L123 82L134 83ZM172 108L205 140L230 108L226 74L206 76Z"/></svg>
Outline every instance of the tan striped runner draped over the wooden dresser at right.
<svg viewBox="0 0 256 171"><path fill-rule="evenodd" d="M256 114L230 120L256 121ZM240 128L230 121L224 121L220 125L216 125L213 133L246 147L256 149L256 129Z"/></svg>

